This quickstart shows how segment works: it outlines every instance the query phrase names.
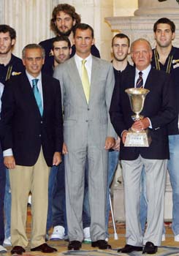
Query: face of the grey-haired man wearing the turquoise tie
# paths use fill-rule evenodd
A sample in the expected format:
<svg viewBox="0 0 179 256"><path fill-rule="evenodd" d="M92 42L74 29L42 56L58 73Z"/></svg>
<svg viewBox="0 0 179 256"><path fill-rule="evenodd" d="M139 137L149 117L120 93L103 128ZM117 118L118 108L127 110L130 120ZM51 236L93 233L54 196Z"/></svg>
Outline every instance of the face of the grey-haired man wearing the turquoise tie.
<svg viewBox="0 0 179 256"><path fill-rule="evenodd" d="M36 78L44 64L42 58L42 50L39 48L26 49L25 58L23 58L23 65L26 66L27 72Z"/></svg>

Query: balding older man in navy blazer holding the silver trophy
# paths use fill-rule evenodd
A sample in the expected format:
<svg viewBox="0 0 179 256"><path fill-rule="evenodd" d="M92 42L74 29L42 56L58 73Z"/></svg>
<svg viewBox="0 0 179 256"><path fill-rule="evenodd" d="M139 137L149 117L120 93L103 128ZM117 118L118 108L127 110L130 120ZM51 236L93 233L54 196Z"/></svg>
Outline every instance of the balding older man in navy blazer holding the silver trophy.
<svg viewBox="0 0 179 256"><path fill-rule="evenodd" d="M123 180L126 208L126 246L119 251L129 253L142 251L154 254L161 244L164 219L164 188L167 174L169 145L167 124L176 116L175 97L170 75L151 68L152 50L145 39L132 43L132 69L121 80L121 86L115 86L110 106L110 117L115 131L121 136L120 158L123 167ZM143 118L132 121L129 97L125 89L139 84L150 90L142 110ZM127 130L135 131L149 128L151 145L149 147L127 147ZM148 227L142 237L140 227L140 176L143 166L146 173L148 195Z"/></svg>

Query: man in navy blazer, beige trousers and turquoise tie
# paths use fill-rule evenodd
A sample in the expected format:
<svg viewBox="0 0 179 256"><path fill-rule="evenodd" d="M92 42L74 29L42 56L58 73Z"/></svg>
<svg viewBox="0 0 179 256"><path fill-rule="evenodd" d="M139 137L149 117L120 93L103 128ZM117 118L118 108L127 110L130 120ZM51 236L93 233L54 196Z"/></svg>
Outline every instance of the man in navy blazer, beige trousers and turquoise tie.
<svg viewBox="0 0 179 256"><path fill-rule="evenodd" d="M56 252L45 244L50 166L61 162L63 143L58 80L41 73L45 51L26 45L26 72L9 80L2 96L1 142L12 189L12 254L28 245L26 206L32 193L31 251Z"/></svg>

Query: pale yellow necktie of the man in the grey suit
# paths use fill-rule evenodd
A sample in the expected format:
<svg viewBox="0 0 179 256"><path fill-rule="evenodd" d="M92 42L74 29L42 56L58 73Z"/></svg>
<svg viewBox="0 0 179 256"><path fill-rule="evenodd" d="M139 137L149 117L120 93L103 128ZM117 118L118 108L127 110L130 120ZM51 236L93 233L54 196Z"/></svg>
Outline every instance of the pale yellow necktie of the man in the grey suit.
<svg viewBox="0 0 179 256"><path fill-rule="evenodd" d="M83 91L84 91L84 94L85 94L85 99L88 103L89 102L89 96L90 96L90 83L89 83L89 78L88 78L88 72L85 68L86 60L83 59L81 62L82 62L82 65L81 65L81 82L82 82L82 85L83 85Z"/></svg>

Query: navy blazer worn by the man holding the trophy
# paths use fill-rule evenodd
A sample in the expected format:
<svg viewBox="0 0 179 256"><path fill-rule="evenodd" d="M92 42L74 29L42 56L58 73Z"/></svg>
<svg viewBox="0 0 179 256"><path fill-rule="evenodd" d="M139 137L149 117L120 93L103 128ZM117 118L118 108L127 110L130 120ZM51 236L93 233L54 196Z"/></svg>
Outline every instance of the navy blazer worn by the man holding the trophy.
<svg viewBox="0 0 179 256"><path fill-rule="evenodd" d="M121 85L115 86L110 106L110 118L119 136L124 129L132 127L133 121L129 97L125 89L134 87L135 69L130 70L121 79ZM151 119L152 129L151 145L145 147L124 147L121 142L121 159L134 160L141 155L146 159L167 159L169 158L169 146L167 136L167 124L177 115L174 86L170 75L165 72L151 69L145 83L145 89L150 92L145 98L142 116Z"/></svg>

